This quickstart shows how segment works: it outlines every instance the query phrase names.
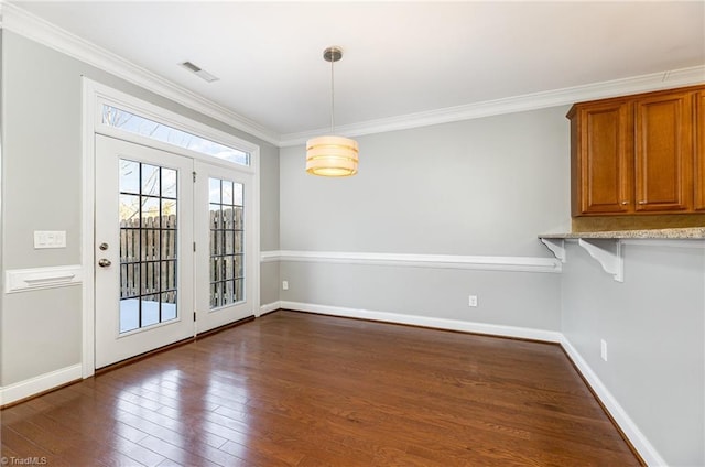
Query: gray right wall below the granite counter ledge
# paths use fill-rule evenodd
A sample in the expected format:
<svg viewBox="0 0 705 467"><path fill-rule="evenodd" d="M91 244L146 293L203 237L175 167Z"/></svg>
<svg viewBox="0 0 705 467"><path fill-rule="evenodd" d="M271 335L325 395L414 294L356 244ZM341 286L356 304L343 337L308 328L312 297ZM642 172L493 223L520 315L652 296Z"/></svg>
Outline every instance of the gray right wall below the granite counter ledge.
<svg viewBox="0 0 705 467"><path fill-rule="evenodd" d="M619 283L567 246L563 333L669 465L703 466L705 250L647 242L623 252Z"/></svg>

